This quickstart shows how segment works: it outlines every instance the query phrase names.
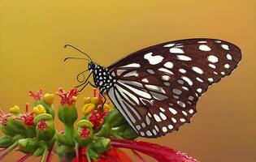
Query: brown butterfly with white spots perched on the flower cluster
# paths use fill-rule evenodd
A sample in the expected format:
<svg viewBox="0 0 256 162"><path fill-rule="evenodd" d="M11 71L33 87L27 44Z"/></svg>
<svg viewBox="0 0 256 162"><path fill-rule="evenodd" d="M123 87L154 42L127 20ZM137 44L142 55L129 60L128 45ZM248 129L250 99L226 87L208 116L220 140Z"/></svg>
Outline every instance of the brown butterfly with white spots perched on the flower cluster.
<svg viewBox="0 0 256 162"><path fill-rule="evenodd" d="M108 67L88 61L90 74L78 87L98 87L137 134L157 138L190 122L199 97L232 73L241 49L224 40L185 39L138 50Z"/></svg>

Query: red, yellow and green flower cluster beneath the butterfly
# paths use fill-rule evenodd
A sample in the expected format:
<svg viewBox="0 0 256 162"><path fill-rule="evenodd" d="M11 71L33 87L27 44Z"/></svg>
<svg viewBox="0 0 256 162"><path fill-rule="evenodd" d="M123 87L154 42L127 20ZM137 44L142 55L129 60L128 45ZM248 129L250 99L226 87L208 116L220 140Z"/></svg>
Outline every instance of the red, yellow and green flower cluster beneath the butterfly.
<svg viewBox="0 0 256 162"><path fill-rule="evenodd" d="M4 113L0 109L0 160L13 150L25 153L19 162L29 156L41 156L41 162L50 162L53 153L60 161L73 162L132 162L119 147L132 150L138 160L145 162L138 152L152 156L159 162L188 161L192 157L168 147L136 141L138 135L125 121L117 109L105 97L97 94L84 98L84 106L77 110L76 100L79 92L72 88L69 92L59 88L60 96L58 118L64 130L54 126L54 94L42 91L29 92L34 99L33 109L26 104L22 113L15 105ZM78 112L83 117L78 119ZM75 126L76 125L76 126Z"/></svg>

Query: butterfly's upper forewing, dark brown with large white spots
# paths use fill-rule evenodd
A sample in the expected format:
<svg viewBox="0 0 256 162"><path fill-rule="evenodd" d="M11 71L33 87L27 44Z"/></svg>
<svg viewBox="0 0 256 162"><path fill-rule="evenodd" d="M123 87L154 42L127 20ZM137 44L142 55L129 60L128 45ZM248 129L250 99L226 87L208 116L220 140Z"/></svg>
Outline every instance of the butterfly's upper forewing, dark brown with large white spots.
<svg viewBox="0 0 256 162"><path fill-rule="evenodd" d="M197 96L206 92L209 85L230 75L241 60L241 49L224 40L175 40L131 53L108 67L136 70L171 70L176 79L189 83Z"/></svg>

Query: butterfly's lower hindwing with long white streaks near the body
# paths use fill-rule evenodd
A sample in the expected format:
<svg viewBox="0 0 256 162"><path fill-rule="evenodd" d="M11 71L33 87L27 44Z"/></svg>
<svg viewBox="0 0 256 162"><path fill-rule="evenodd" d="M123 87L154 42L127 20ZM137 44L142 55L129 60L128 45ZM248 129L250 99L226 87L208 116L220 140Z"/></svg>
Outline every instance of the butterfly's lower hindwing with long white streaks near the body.
<svg viewBox="0 0 256 162"><path fill-rule="evenodd" d="M147 138L165 135L189 123L197 104L196 94L184 79L163 71L150 75L152 72L137 70L140 77L135 78L135 73L127 72L108 92L133 130Z"/></svg>

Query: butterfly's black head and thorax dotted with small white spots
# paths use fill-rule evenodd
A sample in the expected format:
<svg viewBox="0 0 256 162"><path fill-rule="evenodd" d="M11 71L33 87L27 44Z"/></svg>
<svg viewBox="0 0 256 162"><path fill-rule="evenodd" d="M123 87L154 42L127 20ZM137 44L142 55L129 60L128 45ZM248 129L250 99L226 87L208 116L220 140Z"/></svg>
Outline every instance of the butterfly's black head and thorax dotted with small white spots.
<svg viewBox="0 0 256 162"><path fill-rule="evenodd" d="M95 62L89 62L89 70L93 73L95 86L100 89L100 92L108 92L115 81L110 75L108 69Z"/></svg>

